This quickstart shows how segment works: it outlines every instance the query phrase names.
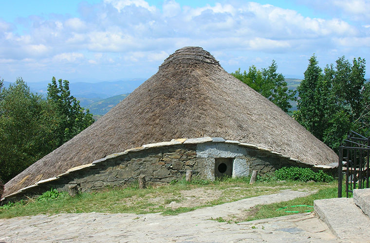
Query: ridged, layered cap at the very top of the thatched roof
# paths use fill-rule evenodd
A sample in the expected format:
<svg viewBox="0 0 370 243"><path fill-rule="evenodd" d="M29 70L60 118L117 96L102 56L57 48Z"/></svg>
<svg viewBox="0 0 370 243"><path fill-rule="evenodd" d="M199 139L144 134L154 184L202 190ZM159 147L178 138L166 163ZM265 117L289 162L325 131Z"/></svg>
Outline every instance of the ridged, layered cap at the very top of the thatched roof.
<svg viewBox="0 0 370 243"><path fill-rule="evenodd" d="M194 64L207 63L220 66L219 62L211 53L203 50L202 47L183 47L169 55L159 69L163 69L171 64Z"/></svg>

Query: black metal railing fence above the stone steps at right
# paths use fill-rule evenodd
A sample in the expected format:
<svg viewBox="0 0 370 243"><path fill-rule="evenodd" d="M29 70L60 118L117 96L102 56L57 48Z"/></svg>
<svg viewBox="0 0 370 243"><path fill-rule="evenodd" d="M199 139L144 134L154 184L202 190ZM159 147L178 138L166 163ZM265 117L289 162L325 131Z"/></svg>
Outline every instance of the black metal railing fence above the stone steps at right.
<svg viewBox="0 0 370 243"><path fill-rule="evenodd" d="M339 147L338 197L342 197L343 175L346 178L346 196L353 189L369 188L370 138L351 131Z"/></svg>

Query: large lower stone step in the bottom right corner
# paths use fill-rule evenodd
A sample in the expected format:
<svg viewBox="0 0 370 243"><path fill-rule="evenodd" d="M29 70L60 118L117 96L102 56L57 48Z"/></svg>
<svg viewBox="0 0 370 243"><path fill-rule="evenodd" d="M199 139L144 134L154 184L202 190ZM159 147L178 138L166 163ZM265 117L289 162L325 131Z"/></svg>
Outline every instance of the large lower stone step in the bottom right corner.
<svg viewBox="0 0 370 243"><path fill-rule="evenodd" d="M353 198L315 200L314 211L339 239L370 242L370 218L354 204Z"/></svg>

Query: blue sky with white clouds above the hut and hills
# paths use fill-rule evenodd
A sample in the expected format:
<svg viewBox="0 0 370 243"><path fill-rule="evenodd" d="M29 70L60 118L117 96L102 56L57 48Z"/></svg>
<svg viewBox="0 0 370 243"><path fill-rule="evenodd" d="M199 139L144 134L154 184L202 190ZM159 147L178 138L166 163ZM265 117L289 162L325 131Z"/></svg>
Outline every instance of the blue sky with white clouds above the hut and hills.
<svg viewBox="0 0 370 243"><path fill-rule="evenodd" d="M149 78L185 46L228 72L303 78L308 59L369 60L370 0L0 0L0 77L15 82Z"/></svg>

